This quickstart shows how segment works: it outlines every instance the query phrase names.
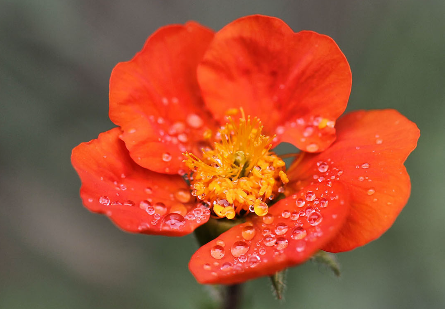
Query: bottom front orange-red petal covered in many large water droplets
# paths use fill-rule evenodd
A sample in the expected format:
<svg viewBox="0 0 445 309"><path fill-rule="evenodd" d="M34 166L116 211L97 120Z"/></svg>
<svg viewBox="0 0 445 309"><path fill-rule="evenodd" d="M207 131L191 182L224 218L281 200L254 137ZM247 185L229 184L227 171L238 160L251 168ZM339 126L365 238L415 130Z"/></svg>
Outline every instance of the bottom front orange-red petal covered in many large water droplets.
<svg viewBox="0 0 445 309"><path fill-rule="evenodd" d="M303 263L341 228L347 198L339 183L307 186L203 245L189 269L199 283L235 284Z"/></svg>

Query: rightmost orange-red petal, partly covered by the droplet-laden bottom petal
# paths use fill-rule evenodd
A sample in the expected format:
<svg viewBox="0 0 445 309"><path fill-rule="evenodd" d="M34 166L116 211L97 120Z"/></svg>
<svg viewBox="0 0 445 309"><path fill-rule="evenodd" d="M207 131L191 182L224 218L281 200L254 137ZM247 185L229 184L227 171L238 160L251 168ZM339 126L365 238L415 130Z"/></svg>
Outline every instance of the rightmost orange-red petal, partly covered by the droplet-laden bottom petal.
<svg viewBox="0 0 445 309"><path fill-rule="evenodd" d="M330 148L305 154L287 173L296 189L319 181L341 182L348 189L351 212L324 246L331 252L364 245L391 227L409 198L411 183L403 163L420 136L416 124L391 109L348 113L336 128Z"/></svg>

